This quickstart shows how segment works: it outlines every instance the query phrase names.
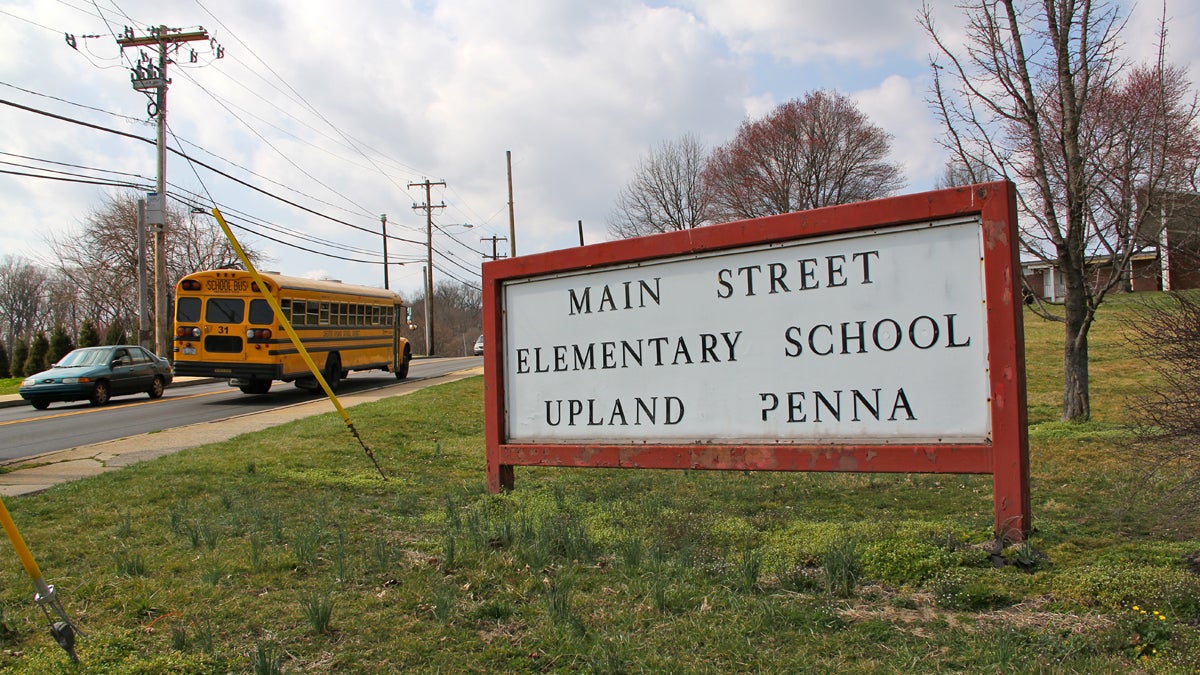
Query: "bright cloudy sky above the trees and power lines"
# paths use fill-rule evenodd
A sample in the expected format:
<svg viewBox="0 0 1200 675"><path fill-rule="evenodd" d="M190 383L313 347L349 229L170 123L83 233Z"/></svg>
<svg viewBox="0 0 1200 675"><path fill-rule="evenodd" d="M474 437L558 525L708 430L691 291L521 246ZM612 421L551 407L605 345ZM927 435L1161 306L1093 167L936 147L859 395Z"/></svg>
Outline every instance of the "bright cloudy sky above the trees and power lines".
<svg viewBox="0 0 1200 675"><path fill-rule="evenodd" d="M961 14L932 0L948 35ZM152 138L130 85L126 26L203 26L170 66L169 145L258 190L168 160L169 190L216 203L266 269L419 292L424 189L437 279L479 282L482 238L517 253L604 240L618 191L656 144L730 141L746 118L815 89L850 95L893 136L906 192L944 155L925 103L919 0L0 0L0 255L49 263L112 187L151 185ZM1200 66L1200 2L1168 0L1171 61ZM1162 2L1127 5L1128 55L1148 59ZM76 48L68 44L71 36ZM216 58L220 48L223 58ZM194 61L192 49L194 49ZM264 193L265 192L265 193ZM289 205L292 202L296 205ZM198 216L204 217L204 216ZM468 228L466 225L473 227ZM269 239L269 238L270 239ZM275 239L275 240L272 240ZM499 243L508 253L508 243ZM400 264L403 263L403 264Z"/></svg>

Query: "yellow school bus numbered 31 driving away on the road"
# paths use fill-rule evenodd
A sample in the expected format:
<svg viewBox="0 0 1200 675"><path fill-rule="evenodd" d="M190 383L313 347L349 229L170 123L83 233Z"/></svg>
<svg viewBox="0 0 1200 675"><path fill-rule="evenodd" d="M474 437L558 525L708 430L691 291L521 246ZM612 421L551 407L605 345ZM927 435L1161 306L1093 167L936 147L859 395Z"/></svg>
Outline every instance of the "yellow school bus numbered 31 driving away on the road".
<svg viewBox="0 0 1200 675"><path fill-rule="evenodd" d="M260 274L266 292L334 389L352 370L408 377L412 350L400 295L383 288ZM280 317L248 271L197 271L175 286L175 376L228 378L246 394L275 381L316 388Z"/></svg>

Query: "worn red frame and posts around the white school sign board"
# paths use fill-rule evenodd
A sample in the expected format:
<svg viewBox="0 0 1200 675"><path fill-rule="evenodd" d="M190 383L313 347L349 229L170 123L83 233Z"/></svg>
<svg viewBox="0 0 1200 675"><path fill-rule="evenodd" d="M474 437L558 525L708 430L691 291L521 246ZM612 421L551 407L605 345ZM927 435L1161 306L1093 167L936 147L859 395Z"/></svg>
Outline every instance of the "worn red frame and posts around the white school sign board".
<svg viewBox="0 0 1200 675"><path fill-rule="evenodd" d="M580 444L510 443L505 432L504 307L506 281L755 244L883 229L956 216L983 228L990 377L990 443L924 444ZM487 488L511 489L515 466L990 473L995 532L1021 540L1030 531L1025 340L1019 292L1016 202L997 181L779 216L607 241L484 264L484 364Z"/></svg>

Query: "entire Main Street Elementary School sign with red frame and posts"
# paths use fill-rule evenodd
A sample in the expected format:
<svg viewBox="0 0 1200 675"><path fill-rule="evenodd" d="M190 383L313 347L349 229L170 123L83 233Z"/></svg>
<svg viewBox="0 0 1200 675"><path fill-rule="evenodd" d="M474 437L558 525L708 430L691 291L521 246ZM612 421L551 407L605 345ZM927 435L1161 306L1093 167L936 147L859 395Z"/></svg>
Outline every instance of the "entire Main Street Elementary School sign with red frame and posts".
<svg viewBox="0 0 1200 675"><path fill-rule="evenodd" d="M991 473L1028 531L1012 185L484 265L488 486L512 467Z"/></svg>

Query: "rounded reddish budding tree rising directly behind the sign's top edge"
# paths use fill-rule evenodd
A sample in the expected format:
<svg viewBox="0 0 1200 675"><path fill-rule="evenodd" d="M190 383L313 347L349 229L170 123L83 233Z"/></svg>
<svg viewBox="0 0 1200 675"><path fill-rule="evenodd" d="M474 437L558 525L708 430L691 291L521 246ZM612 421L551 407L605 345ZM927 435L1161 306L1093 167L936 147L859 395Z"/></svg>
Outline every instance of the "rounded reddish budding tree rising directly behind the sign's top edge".
<svg viewBox="0 0 1200 675"><path fill-rule="evenodd" d="M812 91L743 123L713 151L704 183L722 220L875 199L904 186L890 149L850 97Z"/></svg>

